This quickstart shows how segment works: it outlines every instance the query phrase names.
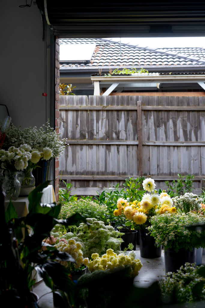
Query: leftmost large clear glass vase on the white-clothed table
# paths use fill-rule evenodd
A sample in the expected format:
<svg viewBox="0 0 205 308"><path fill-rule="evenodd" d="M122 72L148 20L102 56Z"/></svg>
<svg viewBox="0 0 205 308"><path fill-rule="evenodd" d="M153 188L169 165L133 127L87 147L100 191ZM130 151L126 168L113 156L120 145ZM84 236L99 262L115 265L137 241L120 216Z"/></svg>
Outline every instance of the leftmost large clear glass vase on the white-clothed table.
<svg viewBox="0 0 205 308"><path fill-rule="evenodd" d="M17 171L6 171L2 183L2 191L6 194L6 200L16 200L20 194L21 184L17 179Z"/></svg>

